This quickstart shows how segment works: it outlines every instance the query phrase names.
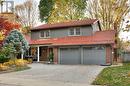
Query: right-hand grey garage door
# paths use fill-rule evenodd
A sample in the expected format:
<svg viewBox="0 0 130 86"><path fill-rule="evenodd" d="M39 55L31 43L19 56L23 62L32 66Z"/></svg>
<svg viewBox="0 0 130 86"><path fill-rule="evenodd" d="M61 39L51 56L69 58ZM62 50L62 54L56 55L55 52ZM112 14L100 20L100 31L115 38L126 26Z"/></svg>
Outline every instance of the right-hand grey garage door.
<svg viewBox="0 0 130 86"><path fill-rule="evenodd" d="M83 64L105 64L105 49L83 48Z"/></svg>

